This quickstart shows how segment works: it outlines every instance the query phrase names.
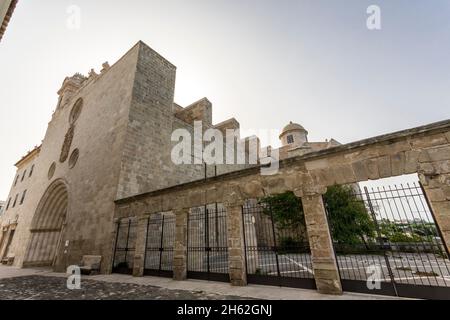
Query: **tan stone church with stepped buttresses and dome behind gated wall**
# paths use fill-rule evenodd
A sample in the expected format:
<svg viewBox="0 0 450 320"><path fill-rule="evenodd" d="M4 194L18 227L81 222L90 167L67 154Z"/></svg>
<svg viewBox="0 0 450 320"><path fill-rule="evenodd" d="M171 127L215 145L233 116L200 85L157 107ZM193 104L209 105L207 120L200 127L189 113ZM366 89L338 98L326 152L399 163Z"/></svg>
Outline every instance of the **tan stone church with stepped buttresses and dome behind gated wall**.
<svg viewBox="0 0 450 320"><path fill-rule="evenodd" d="M64 80L42 145L16 164L0 217L2 263L64 271L83 255L99 255L109 272L116 200L251 166L173 164L174 130L192 132L194 121L239 128L235 119L214 125L206 98L185 108L174 103L175 75L174 65L139 42L99 74ZM339 145L308 142L292 123L280 139L282 159Z"/></svg>

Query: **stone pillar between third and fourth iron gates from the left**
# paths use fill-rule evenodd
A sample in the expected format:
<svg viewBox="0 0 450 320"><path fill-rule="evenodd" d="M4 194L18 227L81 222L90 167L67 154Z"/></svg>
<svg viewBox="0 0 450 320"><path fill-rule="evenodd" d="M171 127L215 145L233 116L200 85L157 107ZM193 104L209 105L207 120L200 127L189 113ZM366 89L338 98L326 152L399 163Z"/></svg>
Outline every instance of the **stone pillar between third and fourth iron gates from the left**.
<svg viewBox="0 0 450 320"><path fill-rule="evenodd" d="M247 271L245 269L244 230L242 224L243 203L226 205L228 263L230 282L233 286L247 285Z"/></svg>

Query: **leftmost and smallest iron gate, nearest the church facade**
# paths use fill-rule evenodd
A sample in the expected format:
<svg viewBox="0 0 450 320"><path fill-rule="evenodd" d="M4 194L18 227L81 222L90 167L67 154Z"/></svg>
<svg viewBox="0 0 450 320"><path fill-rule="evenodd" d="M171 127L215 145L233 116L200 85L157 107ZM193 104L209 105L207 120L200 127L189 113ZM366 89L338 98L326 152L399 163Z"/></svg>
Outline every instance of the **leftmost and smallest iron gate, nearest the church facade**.
<svg viewBox="0 0 450 320"><path fill-rule="evenodd" d="M137 221L135 218L122 219L118 223L112 268L113 273L133 273L136 231Z"/></svg>

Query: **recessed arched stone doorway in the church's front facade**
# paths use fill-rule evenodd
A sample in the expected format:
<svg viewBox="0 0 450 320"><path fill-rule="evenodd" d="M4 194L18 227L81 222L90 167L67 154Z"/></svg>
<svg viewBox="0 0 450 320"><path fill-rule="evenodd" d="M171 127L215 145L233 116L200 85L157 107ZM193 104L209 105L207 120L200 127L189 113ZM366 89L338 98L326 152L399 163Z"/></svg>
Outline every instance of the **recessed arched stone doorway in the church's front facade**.
<svg viewBox="0 0 450 320"><path fill-rule="evenodd" d="M31 223L31 239L24 266L53 266L67 216L68 192L66 184L53 182L44 193Z"/></svg>

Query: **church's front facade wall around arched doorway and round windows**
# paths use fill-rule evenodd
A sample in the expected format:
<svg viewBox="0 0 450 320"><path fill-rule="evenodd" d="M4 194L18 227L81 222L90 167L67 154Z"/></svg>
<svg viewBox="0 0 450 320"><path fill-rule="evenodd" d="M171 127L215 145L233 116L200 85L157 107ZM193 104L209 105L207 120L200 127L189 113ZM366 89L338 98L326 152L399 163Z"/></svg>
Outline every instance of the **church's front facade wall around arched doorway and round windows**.
<svg viewBox="0 0 450 320"><path fill-rule="evenodd" d="M111 257L114 200L121 168L121 157L132 98L134 70L140 44L134 46L116 64L100 75L86 80L83 87L60 104L52 115L30 178L25 202L20 211L8 210L3 217L10 220L18 216L11 251L14 264L23 266L30 245L30 229L43 195L55 181L61 181L68 191L65 232L58 247L56 269L67 264L79 264L82 255ZM73 168L69 159L60 162L61 149L71 124L71 111L75 102L83 99L83 106L75 124L69 145L69 156L78 148L79 157ZM55 163L53 175L49 168ZM15 191L12 191L15 192ZM67 255L64 254L67 249ZM103 267L109 266L103 263ZM107 271L103 269L103 271Z"/></svg>

